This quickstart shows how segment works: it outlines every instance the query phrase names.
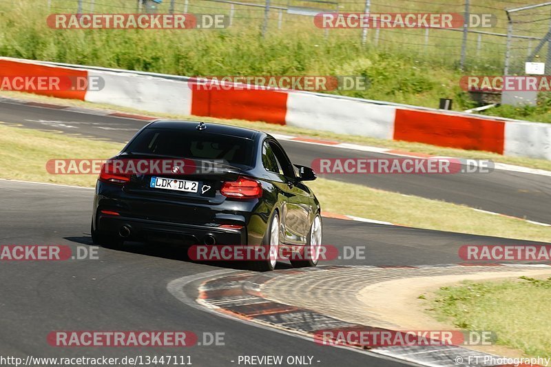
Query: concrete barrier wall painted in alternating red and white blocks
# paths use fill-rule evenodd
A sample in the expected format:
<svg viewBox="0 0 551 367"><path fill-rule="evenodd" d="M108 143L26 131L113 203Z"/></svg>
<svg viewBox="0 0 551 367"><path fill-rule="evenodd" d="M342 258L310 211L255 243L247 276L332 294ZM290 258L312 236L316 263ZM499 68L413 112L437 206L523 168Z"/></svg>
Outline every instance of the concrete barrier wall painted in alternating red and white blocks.
<svg viewBox="0 0 551 367"><path fill-rule="evenodd" d="M275 90L205 90L191 81L125 70L0 58L0 76L99 76L96 91L36 92L149 112L238 118L339 134L406 140L551 160L551 124L443 112L357 98ZM31 91L29 91L31 92Z"/></svg>

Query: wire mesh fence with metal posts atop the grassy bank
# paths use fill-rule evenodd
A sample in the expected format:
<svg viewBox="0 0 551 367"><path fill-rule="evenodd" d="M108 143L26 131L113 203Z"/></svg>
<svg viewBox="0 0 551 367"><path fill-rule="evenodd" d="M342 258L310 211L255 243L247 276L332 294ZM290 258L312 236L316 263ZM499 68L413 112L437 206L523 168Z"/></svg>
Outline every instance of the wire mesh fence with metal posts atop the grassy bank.
<svg viewBox="0 0 551 367"><path fill-rule="evenodd" d="M405 52L424 62L458 70L522 74L525 61L551 67L551 3L530 0L48 0L50 12L223 13L231 28L256 27L264 37L278 32L319 34L320 41L358 42L388 52ZM320 12L493 14L491 28L320 29ZM292 33L291 33L292 34ZM543 56L542 56L543 55ZM551 72L551 69L548 69Z"/></svg>

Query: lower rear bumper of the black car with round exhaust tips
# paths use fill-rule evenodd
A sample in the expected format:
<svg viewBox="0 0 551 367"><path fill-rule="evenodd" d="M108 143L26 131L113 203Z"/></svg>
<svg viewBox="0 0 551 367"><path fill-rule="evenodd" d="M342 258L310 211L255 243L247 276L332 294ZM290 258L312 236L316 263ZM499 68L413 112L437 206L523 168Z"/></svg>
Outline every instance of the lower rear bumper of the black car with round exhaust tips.
<svg viewBox="0 0 551 367"><path fill-rule="evenodd" d="M126 227L129 231L125 233ZM96 229L125 240L170 242L174 244L247 244L247 227L225 229L215 225L180 224L141 218L99 214ZM123 235L121 235L121 232ZM214 243L213 243L214 239Z"/></svg>

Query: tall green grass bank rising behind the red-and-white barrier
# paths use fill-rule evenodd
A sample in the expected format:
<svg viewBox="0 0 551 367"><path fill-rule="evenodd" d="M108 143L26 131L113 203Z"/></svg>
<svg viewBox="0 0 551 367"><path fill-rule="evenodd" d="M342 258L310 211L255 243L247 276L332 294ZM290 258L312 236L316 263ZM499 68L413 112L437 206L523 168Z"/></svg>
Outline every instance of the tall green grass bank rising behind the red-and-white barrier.
<svg viewBox="0 0 551 367"><path fill-rule="evenodd" d="M277 2L277 1L276 1ZM284 5L287 5L285 2ZM342 4L341 11L362 11L364 1ZM419 4L417 4L419 6ZM85 1L84 11L90 2ZM165 1L160 12L167 12ZM493 9L500 1L472 5L473 12ZM394 10L392 10L392 9ZM452 0L415 8L406 0L393 1L385 8L374 2L372 12L396 9L462 12ZM51 12L74 12L76 0L52 0ZM209 1L190 1L189 12L229 12L229 6ZM401 10L401 11L402 11ZM133 2L114 0L96 3L95 12L134 12ZM176 11L183 11L178 1ZM269 34L262 38L262 9L236 8L236 19L226 30L54 30L45 19L43 0L14 2L0 12L0 54L39 59L118 67L187 76L200 75L355 75L371 80L366 91L335 92L346 96L438 107L439 98L453 98L454 108L475 107L459 87L462 73L457 68L461 32L430 30L427 47L424 30L382 30L375 45L375 31L368 42L360 42L360 30L331 30L324 36L308 17L284 14L278 30L278 12L271 12ZM484 48L476 49L476 36L469 35L467 70L470 74L499 74L503 64L503 38L485 36ZM546 103L545 101L543 103ZM501 109L493 113L499 114ZM492 113L492 112L490 112ZM539 112L504 111L510 117L548 120Z"/></svg>

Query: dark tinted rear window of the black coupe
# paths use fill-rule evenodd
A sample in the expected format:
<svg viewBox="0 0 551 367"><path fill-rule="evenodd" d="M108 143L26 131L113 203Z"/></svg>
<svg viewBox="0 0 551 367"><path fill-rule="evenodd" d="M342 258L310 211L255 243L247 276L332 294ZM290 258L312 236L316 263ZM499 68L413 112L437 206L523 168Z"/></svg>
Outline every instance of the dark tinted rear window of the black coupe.
<svg viewBox="0 0 551 367"><path fill-rule="evenodd" d="M253 140L207 132L150 128L136 136L126 151L133 154L226 160L231 165L251 167Z"/></svg>

